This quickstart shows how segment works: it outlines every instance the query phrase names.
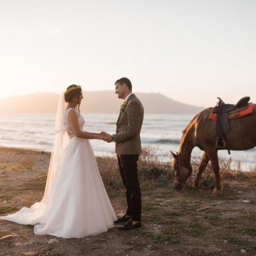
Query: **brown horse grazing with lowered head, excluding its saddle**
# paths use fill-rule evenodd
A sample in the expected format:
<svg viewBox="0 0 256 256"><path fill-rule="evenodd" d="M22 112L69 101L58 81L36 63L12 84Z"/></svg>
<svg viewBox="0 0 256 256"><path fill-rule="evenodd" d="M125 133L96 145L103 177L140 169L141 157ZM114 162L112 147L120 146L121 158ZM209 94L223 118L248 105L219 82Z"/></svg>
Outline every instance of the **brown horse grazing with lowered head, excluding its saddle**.
<svg viewBox="0 0 256 256"><path fill-rule="evenodd" d="M209 160L215 175L214 194L221 194L223 184L218 162L218 148L216 148L215 122L209 120L211 108L198 113L182 132L179 153L173 155L173 170L175 189L181 190L192 172L190 163L191 152L194 147L204 150L204 155L195 179L195 187L198 187L202 173ZM243 116L230 122L230 131L225 134L226 150L247 150L256 146L256 108L251 115Z"/></svg>

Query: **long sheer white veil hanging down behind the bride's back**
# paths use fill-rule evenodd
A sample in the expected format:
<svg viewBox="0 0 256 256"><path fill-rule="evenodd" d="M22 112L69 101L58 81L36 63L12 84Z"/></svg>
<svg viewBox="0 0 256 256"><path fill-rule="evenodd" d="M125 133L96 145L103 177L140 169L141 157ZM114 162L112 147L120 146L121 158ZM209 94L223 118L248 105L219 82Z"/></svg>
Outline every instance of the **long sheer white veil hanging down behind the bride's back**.
<svg viewBox="0 0 256 256"><path fill-rule="evenodd" d="M64 125L64 115L65 115L65 93L61 93L60 100L58 103L58 109L56 113L56 120L55 120L55 139L52 146L52 154L51 160L49 164L49 170L47 174L47 181L45 185L44 197L42 198L42 203L46 204L49 198L49 193L52 188L52 184L57 176L58 167L60 163L61 152L67 145L68 135L67 132L65 133L65 125Z"/></svg>

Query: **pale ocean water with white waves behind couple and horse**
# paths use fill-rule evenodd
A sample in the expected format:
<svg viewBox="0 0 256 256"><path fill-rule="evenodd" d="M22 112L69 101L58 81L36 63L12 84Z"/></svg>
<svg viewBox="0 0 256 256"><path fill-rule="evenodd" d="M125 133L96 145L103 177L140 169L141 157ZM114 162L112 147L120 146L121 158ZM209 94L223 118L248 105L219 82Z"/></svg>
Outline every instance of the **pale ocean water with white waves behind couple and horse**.
<svg viewBox="0 0 256 256"><path fill-rule="evenodd" d="M88 132L106 131L115 133L117 114L82 114L85 118L84 130ZM179 150L182 130L194 115L151 114L144 116L141 129L143 147L152 147L161 161L170 161L170 150ZM51 152L54 140L55 114L0 114L0 146L31 148ZM91 140L96 156L113 156L115 144L101 140ZM242 170L250 170L256 164L256 148L246 151L220 150L219 156L232 163L241 161ZM202 151L194 148L192 155L201 157Z"/></svg>

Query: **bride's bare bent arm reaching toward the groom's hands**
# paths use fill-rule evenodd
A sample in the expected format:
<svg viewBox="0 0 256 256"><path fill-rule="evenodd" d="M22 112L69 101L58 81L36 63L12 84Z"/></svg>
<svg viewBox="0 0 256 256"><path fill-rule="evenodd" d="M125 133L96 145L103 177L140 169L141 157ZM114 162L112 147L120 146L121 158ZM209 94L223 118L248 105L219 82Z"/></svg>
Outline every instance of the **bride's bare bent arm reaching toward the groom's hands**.
<svg viewBox="0 0 256 256"><path fill-rule="evenodd" d="M68 113L68 121L70 122L72 131L74 132L74 135L76 137L83 138L83 139L97 139L97 140L102 140L104 138L104 135L100 133L98 134L93 132L81 131L79 128L76 112L73 110L70 110Z"/></svg>

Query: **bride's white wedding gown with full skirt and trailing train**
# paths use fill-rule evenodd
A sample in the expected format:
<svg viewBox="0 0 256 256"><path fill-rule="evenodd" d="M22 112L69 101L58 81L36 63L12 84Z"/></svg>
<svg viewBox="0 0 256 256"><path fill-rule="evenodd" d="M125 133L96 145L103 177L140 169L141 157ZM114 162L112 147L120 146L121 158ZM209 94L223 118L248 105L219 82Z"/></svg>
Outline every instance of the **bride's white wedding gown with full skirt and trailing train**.
<svg viewBox="0 0 256 256"><path fill-rule="evenodd" d="M66 120L70 109L66 110ZM79 113L77 113L79 115ZM79 115L79 126L84 124ZM2 220L35 225L37 235L94 236L113 227L115 212L100 177L89 140L72 137L61 153L47 202L42 200Z"/></svg>

